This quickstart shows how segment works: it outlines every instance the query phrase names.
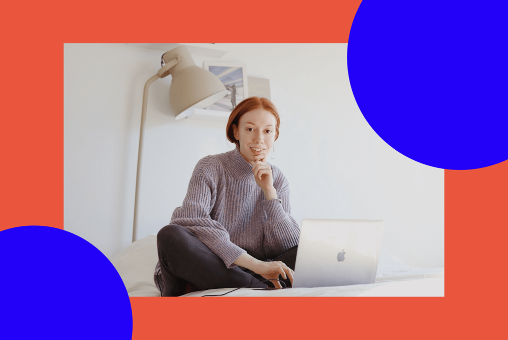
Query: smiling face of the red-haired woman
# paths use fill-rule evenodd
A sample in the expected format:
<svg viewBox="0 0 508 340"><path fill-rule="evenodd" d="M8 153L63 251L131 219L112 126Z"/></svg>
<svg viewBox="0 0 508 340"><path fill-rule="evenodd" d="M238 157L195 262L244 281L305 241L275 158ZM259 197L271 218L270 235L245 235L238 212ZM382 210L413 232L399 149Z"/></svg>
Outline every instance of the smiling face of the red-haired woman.
<svg viewBox="0 0 508 340"><path fill-rule="evenodd" d="M257 160L268 158L275 141L275 124L275 116L264 109L251 110L240 117L238 126L233 124L233 134L240 141L240 154L247 162L254 165Z"/></svg>

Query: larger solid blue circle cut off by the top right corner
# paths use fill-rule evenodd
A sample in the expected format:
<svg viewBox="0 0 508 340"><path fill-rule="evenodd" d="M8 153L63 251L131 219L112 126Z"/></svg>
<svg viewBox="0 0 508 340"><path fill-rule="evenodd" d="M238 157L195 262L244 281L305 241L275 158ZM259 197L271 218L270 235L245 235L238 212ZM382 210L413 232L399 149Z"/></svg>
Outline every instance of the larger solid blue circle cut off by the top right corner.
<svg viewBox="0 0 508 340"><path fill-rule="evenodd" d="M347 69L379 137L438 168L508 159L507 9L506 2L362 1Z"/></svg>

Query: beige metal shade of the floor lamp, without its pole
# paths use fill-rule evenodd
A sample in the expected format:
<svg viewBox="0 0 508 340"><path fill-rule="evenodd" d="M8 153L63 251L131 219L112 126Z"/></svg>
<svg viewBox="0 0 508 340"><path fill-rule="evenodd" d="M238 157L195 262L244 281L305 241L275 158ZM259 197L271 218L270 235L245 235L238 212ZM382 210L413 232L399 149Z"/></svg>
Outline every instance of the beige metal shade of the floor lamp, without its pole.
<svg viewBox="0 0 508 340"><path fill-rule="evenodd" d="M227 95L228 90L214 74L194 63L185 46L166 52L163 59L169 63L178 56L181 60L169 69L173 78L169 101L177 115L175 119L182 119L193 114L189 109L204 109Z"/></svg>

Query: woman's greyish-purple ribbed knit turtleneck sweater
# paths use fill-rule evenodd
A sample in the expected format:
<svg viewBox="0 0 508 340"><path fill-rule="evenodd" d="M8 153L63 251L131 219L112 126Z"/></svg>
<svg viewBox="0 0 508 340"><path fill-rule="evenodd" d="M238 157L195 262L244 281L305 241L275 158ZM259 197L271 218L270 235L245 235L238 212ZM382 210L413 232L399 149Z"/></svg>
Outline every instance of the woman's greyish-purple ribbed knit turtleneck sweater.
<svg viewBox="0 0 508 340"><path fill-rule="evenodd" d="M245 252L262 261L283 254L298 244L300 227L291 216L288 180L268 164L277 199L265 198L238 149L200 159L170 224L192 231L228 268Z"/></svg>

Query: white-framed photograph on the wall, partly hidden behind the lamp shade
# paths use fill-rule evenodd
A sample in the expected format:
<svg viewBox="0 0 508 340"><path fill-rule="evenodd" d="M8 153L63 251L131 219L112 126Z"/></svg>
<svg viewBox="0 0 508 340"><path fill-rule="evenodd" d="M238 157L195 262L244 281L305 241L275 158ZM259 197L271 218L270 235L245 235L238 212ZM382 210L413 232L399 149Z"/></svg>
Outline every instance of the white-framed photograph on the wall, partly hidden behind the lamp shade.
<svg viewBox="0 0 508 340"><path fill-rule="evenodd" d="M210 105L207 109L231 112L235 106L249 96L247 65L223 61L205 61L204 69L220 79L228 95Z"/></svg>

